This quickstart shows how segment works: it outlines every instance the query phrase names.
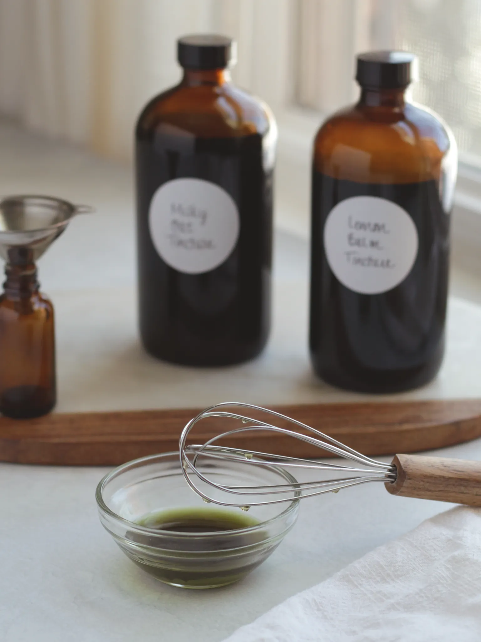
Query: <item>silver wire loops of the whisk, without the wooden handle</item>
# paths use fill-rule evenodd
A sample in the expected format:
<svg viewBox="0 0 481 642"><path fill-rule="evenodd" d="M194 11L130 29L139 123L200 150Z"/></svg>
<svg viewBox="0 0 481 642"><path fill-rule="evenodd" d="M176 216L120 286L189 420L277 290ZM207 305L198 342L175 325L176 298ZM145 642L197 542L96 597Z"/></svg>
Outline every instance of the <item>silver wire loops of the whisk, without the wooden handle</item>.
<svg viewBox="0 0 481 642"><path fill-rule="evenodd" d="M226 408L235 408L235 412L226 410ZM270 421L262 421L257 417L251 417L243 414L245 409L258 413L266 413L270 417L277 417L283 423L287 422L291 426L302 429L298 430L282 428L275 426ZM242 410L241 410L242 409ZM242 426L227 430L218 435L214 435L208 439L204 444L189 444L187 439L194 426L205 419L225 419L226 421L238 421ZM273 453L265 453L257 450L240 449L238 447L219 446L217 442L225 438L239 437L241 433L258 433L273 431L281 434L284 437L291 437L312 446L319 447L323 451L327 451L332 455L344 458L348 461L355 462L364 466L352 467L343 464L330 464L327 462L318 462L316 460L308 460L305 458L298 458L289 455L274 455ZM305 434L310 433L310 434ZM314 436L312 436L314 435ZM230 403L225 402L210 406L203 412L194 417L183 429L179 440L180 446L180 460L183 468L183 473L187 483L189 483L192 490L194 490L205 501L213 501L214 503L224 506L239 506L246 508L250 506L276 504L284 501L293 501L293 499L314 497L317 495L325 494L327 492L338 492L341 489L353 487L362 483L368 482L394 482L396 480L396 467L392 464L385 464L378 462L362 453L358 453L349 446L345 446L336 439L325 435L325 433L312 428L307 424L303 424L296 419L291 419L286 415L261 408L260 406L253 406L245 403ZM209 476L209 460L227 459L230 461L239 462L242 465L257 465L266 469L281 468L300 468L312 470L316 469L320 473L340 473L342 475L351 474L352 476L341 476L337 478L316 479L313 481L297 482L297 483L282 483L273 485L242 485L242 484L221 484ZM293 479L291 477L291 479ZM199 482L203 484L201 487ZM214 489L214 490L210 490ZM241 498L241 501L228 501L233 499L231 496ZM271 497L272 496L272 497ZM254 501L251 501L251 498ZM258 501L260 499L260 501Z"/></svg>

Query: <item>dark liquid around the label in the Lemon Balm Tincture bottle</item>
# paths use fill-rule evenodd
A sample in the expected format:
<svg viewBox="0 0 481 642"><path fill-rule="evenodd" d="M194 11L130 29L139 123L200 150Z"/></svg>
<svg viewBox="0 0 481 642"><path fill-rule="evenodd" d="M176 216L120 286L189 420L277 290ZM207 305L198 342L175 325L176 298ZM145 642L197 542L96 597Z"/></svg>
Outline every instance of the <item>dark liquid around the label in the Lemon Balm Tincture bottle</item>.
<svg viewBox="0 0 481 642"><path fill-rule="evenodd" d="M328 383L361 392L423 385L439 369L444 351L449 213L443 209L438 184L362 184L314 171L312 187L314 369ZM354 196L376 196L400 205L418 231L418 254L409 274L380 294L362 294L342 285L326 259L326 218L335 205Z"/></svg>

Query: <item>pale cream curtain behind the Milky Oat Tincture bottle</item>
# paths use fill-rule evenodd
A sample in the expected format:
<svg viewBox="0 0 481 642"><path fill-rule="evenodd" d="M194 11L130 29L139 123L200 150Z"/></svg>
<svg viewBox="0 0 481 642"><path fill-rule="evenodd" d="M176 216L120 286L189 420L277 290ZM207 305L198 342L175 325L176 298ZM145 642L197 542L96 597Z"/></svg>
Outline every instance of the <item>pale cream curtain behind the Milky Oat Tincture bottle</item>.
<svg viewBox="0 0 481 642"><path fill-rule="evenodd" d="M235 37L235 80L276 107L292 93L296 5L0 0L0 112L38 132L126 159L140 108L180 77L177 37L199 31Z"/></svg>

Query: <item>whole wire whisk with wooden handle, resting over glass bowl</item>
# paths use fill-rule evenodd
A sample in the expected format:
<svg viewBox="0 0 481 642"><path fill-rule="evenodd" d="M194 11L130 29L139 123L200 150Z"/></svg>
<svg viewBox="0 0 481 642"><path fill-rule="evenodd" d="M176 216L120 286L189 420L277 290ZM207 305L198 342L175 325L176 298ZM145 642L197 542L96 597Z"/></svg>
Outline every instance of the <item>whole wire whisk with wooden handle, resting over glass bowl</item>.
<svg viewBox="0 0 481 642"><path fill-rule="evenodd" d="M207 424L210 433L218 433L203 444L188 444L194 428L200 424ZM229 425L233 428L224 429ZM219 444L221 440L240 442L239 437L242 437L242 443L246 443L246 437L254 440L255 433L266 431L319 447L348 460L350 465ZM183 473L189 486L205 501L223 506L246 510L251 506L314 497L370 482L384 483L391 494L481 506L480 462L419 455L396 455L389 464L379 462L296 419L246 403L220 403L199 413L183 429L179 447ZM318 472L319 478L273 485L218 483L212 474L213 460L271 469L308 469Z"/></svg>

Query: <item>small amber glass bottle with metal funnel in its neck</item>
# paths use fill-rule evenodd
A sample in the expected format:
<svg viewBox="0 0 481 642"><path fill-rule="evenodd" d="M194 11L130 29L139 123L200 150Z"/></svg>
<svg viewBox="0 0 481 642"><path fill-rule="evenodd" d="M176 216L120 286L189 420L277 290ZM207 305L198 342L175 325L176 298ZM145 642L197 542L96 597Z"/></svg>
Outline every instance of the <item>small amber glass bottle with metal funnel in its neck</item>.
<svg viewBox="0 0 481 642"><path fill-rule="evenodd" d="M0 296L0 413L14 419L45 415L56 402L53 305L22 252L10 251Z"/></svg>

